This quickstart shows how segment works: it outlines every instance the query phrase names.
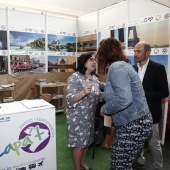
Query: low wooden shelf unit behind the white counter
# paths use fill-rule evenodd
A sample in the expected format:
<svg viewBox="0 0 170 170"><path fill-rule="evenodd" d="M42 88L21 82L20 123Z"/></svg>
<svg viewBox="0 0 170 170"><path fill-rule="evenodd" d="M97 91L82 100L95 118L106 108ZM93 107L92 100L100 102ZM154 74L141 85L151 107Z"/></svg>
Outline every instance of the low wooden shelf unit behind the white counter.
<svg viewBox="0 0 170 170"><path fill-rule="evenodd" d="M35 83L36 96L41 96L45 94L51 94L50 103L56 107L57 112L65 112L65 82L56 83Z"/></svg>

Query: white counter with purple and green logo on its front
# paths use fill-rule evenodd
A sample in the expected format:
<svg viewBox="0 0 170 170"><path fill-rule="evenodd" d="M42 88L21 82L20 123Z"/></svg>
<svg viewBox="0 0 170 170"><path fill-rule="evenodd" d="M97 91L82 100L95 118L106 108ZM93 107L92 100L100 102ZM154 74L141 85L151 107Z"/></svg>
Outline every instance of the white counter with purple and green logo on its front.
<svg viewBox="0 0 170 170"><path fill-rule="evenodd" d="M0 169L57 169L53 105L42 99L2 103L0 130Z"/></svg>

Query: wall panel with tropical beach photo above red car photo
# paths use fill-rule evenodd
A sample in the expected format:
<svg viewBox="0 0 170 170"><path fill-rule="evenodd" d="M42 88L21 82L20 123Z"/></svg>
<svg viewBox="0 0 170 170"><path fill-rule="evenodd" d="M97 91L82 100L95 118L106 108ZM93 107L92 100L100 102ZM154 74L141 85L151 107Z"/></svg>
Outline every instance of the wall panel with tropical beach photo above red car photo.
<svg viewBox="0 0 170 170"><path fill-rule="evenodd" d="M9 19L11 73L45 72L45 16L10 10Z"/></svg>

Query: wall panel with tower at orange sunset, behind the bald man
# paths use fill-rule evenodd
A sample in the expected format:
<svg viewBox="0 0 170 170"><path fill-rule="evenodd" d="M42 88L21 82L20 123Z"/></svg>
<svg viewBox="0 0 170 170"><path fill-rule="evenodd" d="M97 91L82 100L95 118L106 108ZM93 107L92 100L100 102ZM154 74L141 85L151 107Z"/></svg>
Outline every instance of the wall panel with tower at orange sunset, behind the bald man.
<svg viewBox="0 0 170 170"><path fill-rule="evenodd" d="M161 63L168 71L168 54L170 38L170 16L162 13L132 21L128 27L128 58L134 65L134 47L139 41L151 45L150 59Z"/></svg>

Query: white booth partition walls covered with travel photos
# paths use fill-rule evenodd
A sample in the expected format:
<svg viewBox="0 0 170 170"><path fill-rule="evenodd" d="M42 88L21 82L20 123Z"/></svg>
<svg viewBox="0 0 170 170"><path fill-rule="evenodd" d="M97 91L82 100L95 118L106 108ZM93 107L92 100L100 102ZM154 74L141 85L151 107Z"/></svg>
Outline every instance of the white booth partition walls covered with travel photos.
<svg viewBox="0 0 170 170"><path fill-rule="evenodd" d="M123 1L80 18L8 7L0 9L0 16L0 74L73 72L78 56L96 51L108 37L120 40L131 64L135 44L148 41L151 59L169 73L170 8L156 2ZM104 74L100 66L97 71ZM167 100L164 106L162 143Z"/></svg>

